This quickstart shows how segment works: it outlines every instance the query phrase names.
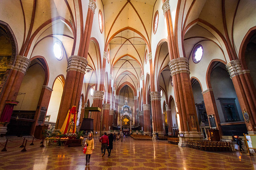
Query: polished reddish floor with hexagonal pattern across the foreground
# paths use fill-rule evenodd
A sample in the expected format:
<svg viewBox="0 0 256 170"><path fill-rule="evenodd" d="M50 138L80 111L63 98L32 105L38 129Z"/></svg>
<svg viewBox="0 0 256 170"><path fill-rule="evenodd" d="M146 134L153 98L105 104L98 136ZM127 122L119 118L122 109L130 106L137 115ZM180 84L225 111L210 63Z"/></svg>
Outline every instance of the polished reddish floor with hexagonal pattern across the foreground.
<svg viewBox="0 0 256 170"><path fill-rule="evenodd" d="M256 155L256 154L255 154ZM20 170L252 170L256 156L239 152L204 152L178 147L167 141L138 141L128 137L114 142L111 156L102 158L100 143L95 139L95 150L90 164L85 166L82 147L67 148L38 146L27 152L0 153L0 169Z"/></svg>

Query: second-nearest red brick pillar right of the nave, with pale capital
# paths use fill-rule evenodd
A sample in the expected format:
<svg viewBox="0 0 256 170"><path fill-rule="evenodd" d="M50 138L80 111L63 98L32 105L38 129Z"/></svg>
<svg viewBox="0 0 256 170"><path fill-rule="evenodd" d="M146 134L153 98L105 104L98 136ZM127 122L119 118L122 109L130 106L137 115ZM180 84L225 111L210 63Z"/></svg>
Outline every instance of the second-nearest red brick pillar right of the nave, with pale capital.
<svg viewBox="0 0 256 170"><path fill-rule="evenodd" d="M152 106L153 134L164 135L163 120L161 111L161 94L158 91L150 93Z"/></svg>

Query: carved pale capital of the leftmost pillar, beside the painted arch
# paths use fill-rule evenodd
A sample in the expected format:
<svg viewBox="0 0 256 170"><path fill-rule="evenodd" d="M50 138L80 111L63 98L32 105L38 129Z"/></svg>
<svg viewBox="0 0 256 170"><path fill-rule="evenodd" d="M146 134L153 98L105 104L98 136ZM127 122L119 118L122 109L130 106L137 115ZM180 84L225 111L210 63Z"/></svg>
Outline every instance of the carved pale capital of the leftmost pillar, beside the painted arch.
<svg viewBox="0 0 256 170"><path fill-rule="evenodd" d="M14 66L10 66L13 70L20 71L24 74L27 73L30 60L22 55L17 55Z"/></svg>

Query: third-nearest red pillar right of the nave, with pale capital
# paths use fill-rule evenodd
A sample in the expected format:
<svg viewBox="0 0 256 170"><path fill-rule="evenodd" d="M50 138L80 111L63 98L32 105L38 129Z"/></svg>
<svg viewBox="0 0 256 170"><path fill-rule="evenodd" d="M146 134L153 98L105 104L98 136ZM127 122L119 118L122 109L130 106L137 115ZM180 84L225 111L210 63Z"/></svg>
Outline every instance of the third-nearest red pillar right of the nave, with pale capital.
<svg viewBox="0 0 256 170"><path fill-rule="evenodd" d="M143 130L144 134L151 134L151 122L150 122L150 104L143 104L143 114L144 114L144 124ZM142 122L142 120L139 120Z"/></svg>

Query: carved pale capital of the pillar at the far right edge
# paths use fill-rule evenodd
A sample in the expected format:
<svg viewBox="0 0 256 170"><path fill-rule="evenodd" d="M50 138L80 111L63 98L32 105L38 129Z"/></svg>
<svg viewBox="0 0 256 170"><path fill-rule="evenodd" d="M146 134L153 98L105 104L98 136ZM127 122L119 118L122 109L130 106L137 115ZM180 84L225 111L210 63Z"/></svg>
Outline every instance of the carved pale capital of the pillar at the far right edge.
<svg viewBox="0 0 256 170"><path fill-rule="evenodd" d="M241 62L238 59L232 60L229 63L227 63L226 68L231 79L240 74L250 73L250 70L242 70Z"/></svg>

